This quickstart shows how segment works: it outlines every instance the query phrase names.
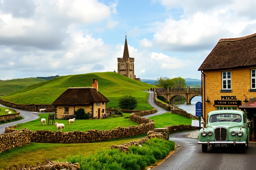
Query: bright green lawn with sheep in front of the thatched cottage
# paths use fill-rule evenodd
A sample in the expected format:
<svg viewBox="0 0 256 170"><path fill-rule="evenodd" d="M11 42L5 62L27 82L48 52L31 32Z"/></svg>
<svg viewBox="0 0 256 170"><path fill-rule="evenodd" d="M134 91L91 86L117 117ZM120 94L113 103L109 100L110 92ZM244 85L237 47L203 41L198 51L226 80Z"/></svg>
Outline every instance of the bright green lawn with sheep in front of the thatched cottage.
<svg viewBox="0 0 256 170"><path fill-rule="evenodd" d="M129 113L124 114L129 115ZM20 130L22 128L28 128L29 130L35 131L35 130L52 130L57 131L57 127L55 125L47 125L48 124L48 114L39 114L41 116L37 120L29 121L26 123L20 123L17 125L21 125L20 127L17 127L16 129ZM41 119L46 119L46 126L41 125ZM68 131L84 131L87 132L91 129L98 129L98 130L110 130L114 129L118 126L128 127L131 125L139 125L136 122L131 121L130 119L124 119L124 117L109 117L108 119L98 119L98 120L75 120L73 125L69 125L68 119L61 120L61 119L55 119L55 122L57 123L63 123L65 125L65 132ZM63 130L62 130L63 131Z"/></svg>

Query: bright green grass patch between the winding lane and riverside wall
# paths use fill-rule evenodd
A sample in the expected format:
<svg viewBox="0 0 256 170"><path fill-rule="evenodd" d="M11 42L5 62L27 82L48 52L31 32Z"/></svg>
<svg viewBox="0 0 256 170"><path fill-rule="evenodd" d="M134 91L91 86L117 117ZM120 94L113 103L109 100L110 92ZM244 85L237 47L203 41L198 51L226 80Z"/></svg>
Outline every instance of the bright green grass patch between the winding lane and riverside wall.
<svg viewBox="0 0 256 170"><path fill-rule="evenodd" d="M191 125L192 119L188 119L187 117L173 114L173 113L164 113L161 115L152 116L149 119L155 121L155 128L162 128L165 126L172 125Z"/></svg>

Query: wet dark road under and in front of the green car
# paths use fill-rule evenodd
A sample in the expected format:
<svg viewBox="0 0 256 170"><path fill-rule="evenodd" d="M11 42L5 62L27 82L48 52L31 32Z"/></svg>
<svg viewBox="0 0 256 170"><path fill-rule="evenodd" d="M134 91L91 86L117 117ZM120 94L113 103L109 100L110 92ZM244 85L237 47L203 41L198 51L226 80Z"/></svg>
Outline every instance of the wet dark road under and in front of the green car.
<svg viewBox="0 0 256 170"><path fill-rule="evenodd" d="M170 140L175 141L177 148L172 156L157 166L156 170L170 169L255 169L256 168L256 144L249 143L245 154L237 152L235 147L209 148L203 153L198 139L188 138L180 132L171 134Z"/></svg>

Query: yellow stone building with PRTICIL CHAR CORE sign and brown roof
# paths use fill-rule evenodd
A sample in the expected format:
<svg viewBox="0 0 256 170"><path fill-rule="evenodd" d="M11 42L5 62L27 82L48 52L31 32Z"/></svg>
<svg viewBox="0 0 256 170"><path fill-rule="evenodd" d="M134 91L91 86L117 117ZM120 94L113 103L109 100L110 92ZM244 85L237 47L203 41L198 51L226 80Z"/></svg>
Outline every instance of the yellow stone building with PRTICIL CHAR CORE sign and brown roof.
<svg viewBox="0 0 256 170"><path fill-rule="evenodd" d="M256 127L256 33L220 39L198 71L205 123L210 111L243 110Z"/></svg>

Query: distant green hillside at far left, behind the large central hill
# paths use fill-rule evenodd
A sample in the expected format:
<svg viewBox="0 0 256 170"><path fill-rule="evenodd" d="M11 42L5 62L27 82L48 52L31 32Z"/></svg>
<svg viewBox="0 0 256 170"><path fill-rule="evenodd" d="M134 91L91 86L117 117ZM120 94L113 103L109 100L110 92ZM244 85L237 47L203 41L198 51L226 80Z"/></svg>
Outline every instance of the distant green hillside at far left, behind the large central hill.
<svg viewBox="0 0 256 170"><path fill-rule="evenodd" d="M13 80L0 80L0 96L7 95L14 91L23 89L30 85L44 82L44 79L26 78L26 79L13 79Z"/></svg>

